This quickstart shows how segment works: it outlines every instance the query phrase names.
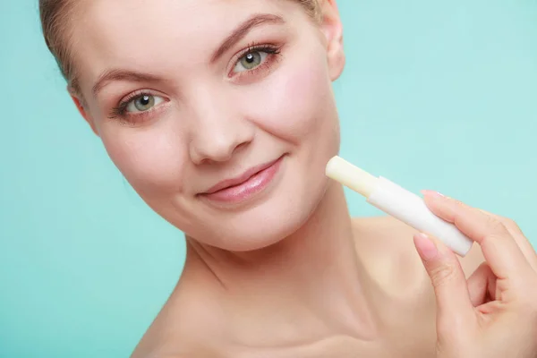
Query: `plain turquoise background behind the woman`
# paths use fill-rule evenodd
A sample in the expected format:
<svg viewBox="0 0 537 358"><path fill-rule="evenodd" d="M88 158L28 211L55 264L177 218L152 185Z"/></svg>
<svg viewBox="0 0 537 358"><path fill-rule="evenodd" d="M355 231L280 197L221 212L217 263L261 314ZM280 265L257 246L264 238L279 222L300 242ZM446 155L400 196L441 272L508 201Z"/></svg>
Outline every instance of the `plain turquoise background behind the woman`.
<svg viewBox="0 0 537 358"><path fill-rule="evenodd" d="M1 0L0 357L126 357L181 273L64 90L37 0ZM342 155L537 243L537 2L339 0ZM347 192L354 215L377 215ZM409 242L410 243L410 242Z"/></svg>

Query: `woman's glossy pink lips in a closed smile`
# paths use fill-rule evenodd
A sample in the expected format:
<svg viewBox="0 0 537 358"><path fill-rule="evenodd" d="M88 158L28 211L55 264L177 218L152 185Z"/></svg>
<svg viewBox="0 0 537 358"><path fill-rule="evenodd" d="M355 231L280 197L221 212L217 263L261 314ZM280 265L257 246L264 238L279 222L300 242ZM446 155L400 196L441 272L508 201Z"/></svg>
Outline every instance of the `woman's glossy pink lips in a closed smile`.
<svg viewBox="0 0 537 358"><path fill-rule="evenodd" d="M247 170L243 175L227 179L203 192L205 198L226 203L237 203L262 192L277 174L283 157Z"/></svg>

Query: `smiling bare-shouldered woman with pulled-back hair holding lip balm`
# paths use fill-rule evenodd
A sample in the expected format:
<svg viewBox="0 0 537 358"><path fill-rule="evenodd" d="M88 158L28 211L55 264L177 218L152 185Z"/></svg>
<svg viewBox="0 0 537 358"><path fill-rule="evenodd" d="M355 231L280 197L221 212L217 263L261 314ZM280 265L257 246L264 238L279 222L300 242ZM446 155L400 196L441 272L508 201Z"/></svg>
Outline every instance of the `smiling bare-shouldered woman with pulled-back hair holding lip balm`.
<svg viewBox="0 0 537 358"><path fill-rule="evenodd" d="M324 175L345 65L335 0L40 8L81 115L186 235L133 357L537 354L537 256L516 225L425 192L479 243L459 261L394 219L352 219Z"/></svg>

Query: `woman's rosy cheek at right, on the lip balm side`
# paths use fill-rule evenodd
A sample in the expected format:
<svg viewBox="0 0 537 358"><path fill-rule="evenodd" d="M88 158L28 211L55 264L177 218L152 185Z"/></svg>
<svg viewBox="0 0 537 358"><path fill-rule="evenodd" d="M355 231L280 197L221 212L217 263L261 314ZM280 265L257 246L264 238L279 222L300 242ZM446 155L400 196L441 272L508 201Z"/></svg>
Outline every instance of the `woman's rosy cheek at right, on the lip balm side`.
<svg viewBox="0 0 537 358"><path fill-rule="evenodd" d="M320 60L286 64L248 96L255 98L248 101L250 119L294 143L319 132L334 112L326 64Z"/></svg>

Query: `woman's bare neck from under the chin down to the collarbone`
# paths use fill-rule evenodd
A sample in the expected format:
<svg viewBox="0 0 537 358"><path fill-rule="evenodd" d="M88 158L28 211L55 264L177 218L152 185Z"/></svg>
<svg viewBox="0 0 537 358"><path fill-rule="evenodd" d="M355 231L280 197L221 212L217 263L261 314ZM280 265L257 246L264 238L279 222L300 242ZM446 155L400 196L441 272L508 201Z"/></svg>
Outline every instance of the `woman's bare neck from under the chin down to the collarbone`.
<svg viewBox="0 0 537 358"><path fill-rule="evenodd" d="M204 282L222 288L219 303L241 312L236 317L255 318L270 332L284 324L285 340L372 338L371 304L364 291L368 277L356 255L345 194L337 183L329 185L298 231L273 246L236 253L187 238L187 247L183 275L204 271L211 277ZM289 338L290 318L300 337ZM247 328L253 324L236 323Z"/></svg>

